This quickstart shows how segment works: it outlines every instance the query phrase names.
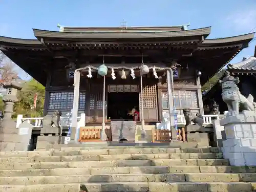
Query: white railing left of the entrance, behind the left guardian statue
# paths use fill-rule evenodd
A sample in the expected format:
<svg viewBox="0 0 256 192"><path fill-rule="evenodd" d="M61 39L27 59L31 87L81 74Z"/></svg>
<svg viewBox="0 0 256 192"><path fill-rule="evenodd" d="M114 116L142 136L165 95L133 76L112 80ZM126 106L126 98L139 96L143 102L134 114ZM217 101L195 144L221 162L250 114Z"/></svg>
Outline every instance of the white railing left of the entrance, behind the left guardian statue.
<svg viewBox="0 0 256 192"><path fill-rule="evenodd" d="M17 120L16 120L16 128L18 128L18 126L20 124L22 124L24 121L31 123L33 125L33 127L42 127L42 119L44 119L44 117L23 117L23 115L18 115ZM81 114L80 117L77 117L78 121L80 119L84 119L84 124L85 124L85 114L84 113ZM60 124L61 124L61 122L66 121L66 120L68 120L68 117L60 117Z"/></svg>

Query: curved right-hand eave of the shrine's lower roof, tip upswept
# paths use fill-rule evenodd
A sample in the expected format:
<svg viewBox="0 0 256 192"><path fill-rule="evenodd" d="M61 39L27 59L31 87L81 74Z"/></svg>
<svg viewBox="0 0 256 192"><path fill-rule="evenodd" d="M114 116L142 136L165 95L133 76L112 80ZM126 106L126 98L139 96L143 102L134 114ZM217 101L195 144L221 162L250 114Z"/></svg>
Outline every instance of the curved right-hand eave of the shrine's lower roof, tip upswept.
<svg viewBox="0 0 256 192"><path fill-rule="evenodd" d="M250 41L254 37L255 32L248 33L244 35L225 37L225 38L216 38L216 39L205 39L202 44L225 44L228 42L239 42L248 40Z"/></svg>

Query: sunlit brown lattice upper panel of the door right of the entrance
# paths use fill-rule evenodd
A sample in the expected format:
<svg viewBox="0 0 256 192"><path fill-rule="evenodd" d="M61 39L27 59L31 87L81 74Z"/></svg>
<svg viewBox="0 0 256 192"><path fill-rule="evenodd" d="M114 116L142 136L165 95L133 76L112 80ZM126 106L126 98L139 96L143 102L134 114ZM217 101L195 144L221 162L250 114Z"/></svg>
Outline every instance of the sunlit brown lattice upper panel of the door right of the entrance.
<svg viewBox="0 0 256 192"><path fill-rule="evenodd" d="M143 108L157 108L157 86L145 86L143 88ZM141 101L141 96L140 96ZM141 105L141 102L140 102Z"/></svg>

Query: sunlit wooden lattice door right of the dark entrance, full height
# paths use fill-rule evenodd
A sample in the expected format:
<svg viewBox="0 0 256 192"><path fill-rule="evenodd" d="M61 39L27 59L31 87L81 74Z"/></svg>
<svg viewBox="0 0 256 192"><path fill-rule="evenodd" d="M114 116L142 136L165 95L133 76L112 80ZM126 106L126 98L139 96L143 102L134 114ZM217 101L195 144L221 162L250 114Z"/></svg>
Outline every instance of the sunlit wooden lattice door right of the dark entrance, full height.
<svg viewBox="0 0 256 192"><path fill-rule="evenodd" d="M156 122L158 121L158 103L157 103L157 85L146 84L143 85L143 112L145 122ZM141 106L141 92L140 106ZM141 108L140 108L141 109Z"/></svg>

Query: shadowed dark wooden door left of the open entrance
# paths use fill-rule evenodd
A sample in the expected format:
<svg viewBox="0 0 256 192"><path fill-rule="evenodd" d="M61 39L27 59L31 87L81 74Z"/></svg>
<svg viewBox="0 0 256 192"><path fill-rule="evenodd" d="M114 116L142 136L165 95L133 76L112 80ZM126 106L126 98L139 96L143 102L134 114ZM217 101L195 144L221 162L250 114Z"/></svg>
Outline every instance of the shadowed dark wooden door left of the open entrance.
<svg viewBox="0 0 256 192"><path fill-rule="evenodd" d="M102 123L103 120L103 83L91 83L88 93L87 122ZM106 99L105 99L105 119L106 119Z"/></svg>

